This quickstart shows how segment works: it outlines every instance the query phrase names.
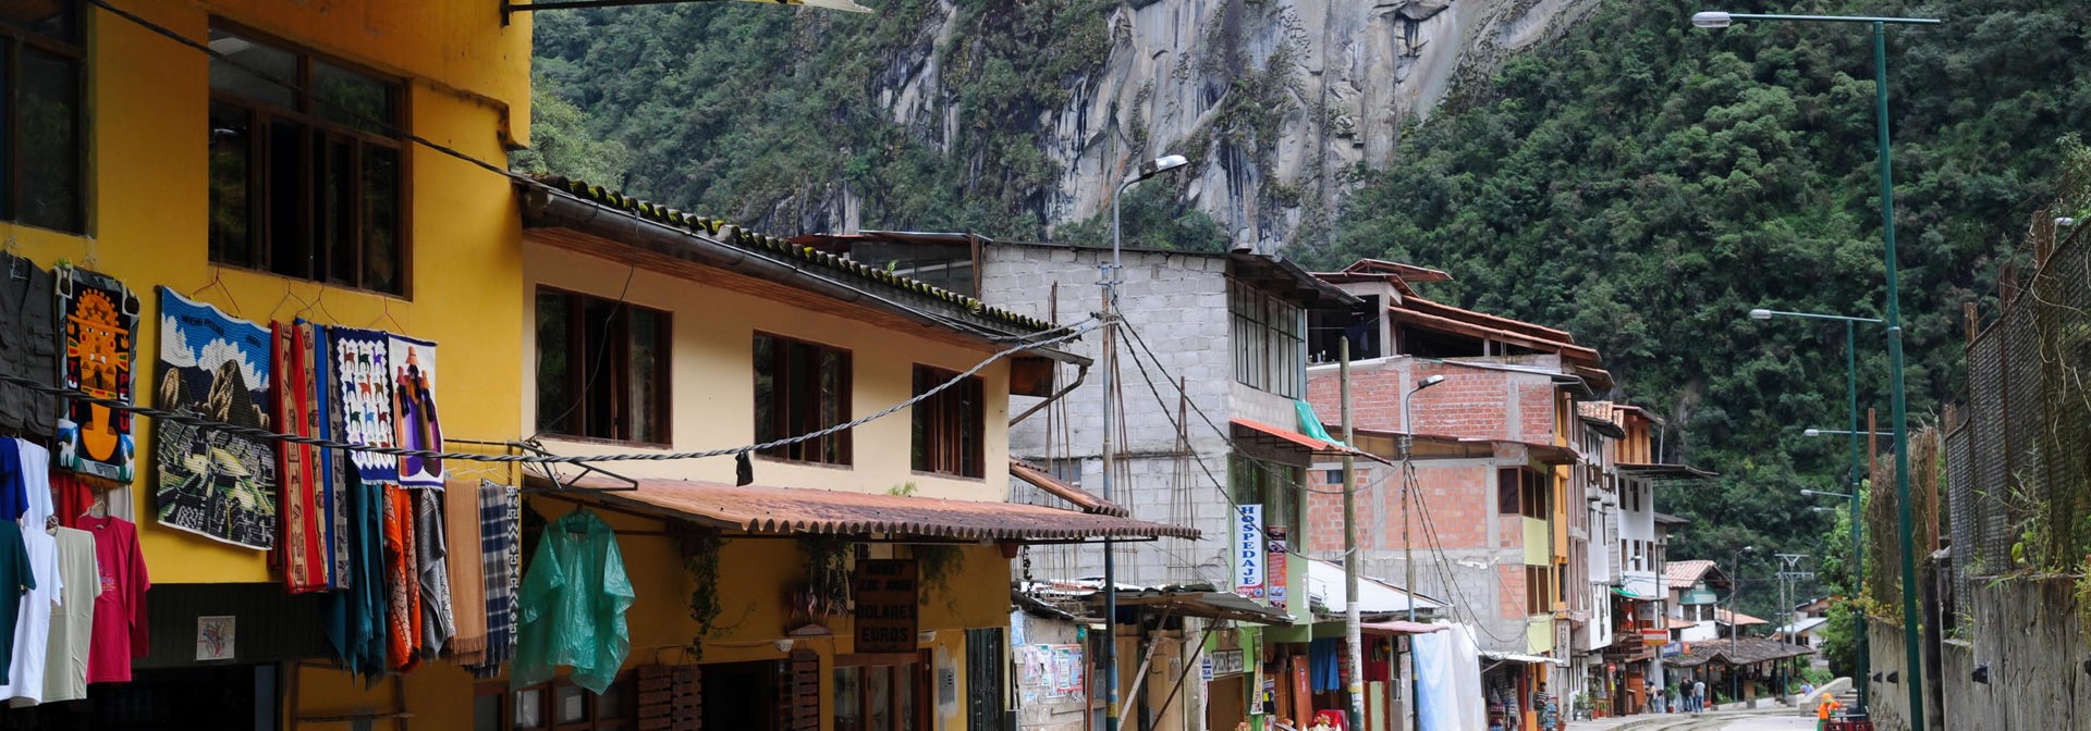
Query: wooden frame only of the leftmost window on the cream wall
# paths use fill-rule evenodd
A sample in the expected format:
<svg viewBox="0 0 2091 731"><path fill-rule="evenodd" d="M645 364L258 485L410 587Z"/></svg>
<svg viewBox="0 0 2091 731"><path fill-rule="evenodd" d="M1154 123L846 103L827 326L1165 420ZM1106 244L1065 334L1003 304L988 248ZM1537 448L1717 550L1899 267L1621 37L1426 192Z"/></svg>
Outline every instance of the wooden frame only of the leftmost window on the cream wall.
<svg viewBox="0 0 2091 731"><path fill-rule="evenodd" d="M546 424L546 409L548 409L548 405L544 403L544 393L539 391L539 395L537 395L537 432L539 434L554 434L554 437L571 439L571 441L592 441L592 443L611 443L611 445L638 445L638 447L669 447L669 445L673 445L675 437L673 437L673 418L671 418L669 407L675 403L673 401L673 382L675 382L675 374L673 374L673 363L675 363L675 357L673 357L675 315L669 313L669 311L665 311L665 309L640 307L640 305L631 305L627 301L615 301L615 299L606 299L606 297L594 297L594 294L588 294L588 292L575 292L575 290L567 290L567 288L558 288L558 286L537 284L535 292L531 294L531 326L533 326L533 332L535 332L537 317L539 317L539 313L537 313L537 299L542 299L544 294L560 294L560 297L567 299L567 395L569 395L571 403L569 405L554 405L556 409L565 411L565 414L554 416L554 420L565 422L565 424L556 424L556 426L554 424ZM590 303L606 303L606 305L613 305L617 309L615 322L594 324L594 328L602 328L602 332L590 332L592 328L585 322L588 317L583 317ZM650 403L650 407L654 411L654 418L659 420L659 424L654 426L657 432L659 432L659 439L654 439L654 441L629 439L631 432L634 432L634 424L629 422L629 418L631 418L629 414L613 416L611 434L590 434L588 432L588 422L590 422L588 388L590 386L611 388L613 391L611 403L615 403L615 405L631 401L631 393L629 393L631 380L629 380L627 374L631 372L631 311L634 309L644 309L644 311L652 313L654 317L661 317L659 332L654 334L659 338L654 343L654 353L661 355L661 361L654 366L654 372L661 376L661 382L654 386L654 397L652 397L652 403ZM592 355L590 349L606 351L611 357L604 357L602 359L604 363L596 366L596 359L588 357L588 355ZM544 343L537 343L537 351L544 351ZM608 380L608 382L594 382L594 384L590 382L590 378L592 378L590 372L596 370L596 368L602 370L604 380ZM537 378L544 378L544 376L537 374Z"/></svg>

